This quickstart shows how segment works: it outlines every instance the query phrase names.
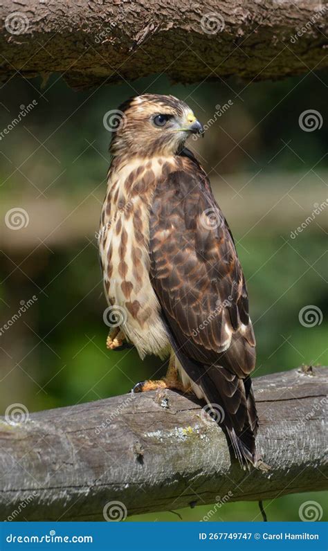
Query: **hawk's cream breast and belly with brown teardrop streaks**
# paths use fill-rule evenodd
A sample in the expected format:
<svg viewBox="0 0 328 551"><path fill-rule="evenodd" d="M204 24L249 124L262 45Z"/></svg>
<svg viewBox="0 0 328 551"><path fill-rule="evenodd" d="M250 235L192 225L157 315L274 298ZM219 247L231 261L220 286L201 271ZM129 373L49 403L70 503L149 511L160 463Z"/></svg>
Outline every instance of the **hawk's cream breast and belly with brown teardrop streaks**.
<svg viewBox="0 0 328 551"><path fill-rule="evenodd" d="M109 304L119 307L125 336L141 357L165 356L168 341L160 305L149 278L149 211L161 158L116 163L109 170L99 233L104 290Z"/></svg>

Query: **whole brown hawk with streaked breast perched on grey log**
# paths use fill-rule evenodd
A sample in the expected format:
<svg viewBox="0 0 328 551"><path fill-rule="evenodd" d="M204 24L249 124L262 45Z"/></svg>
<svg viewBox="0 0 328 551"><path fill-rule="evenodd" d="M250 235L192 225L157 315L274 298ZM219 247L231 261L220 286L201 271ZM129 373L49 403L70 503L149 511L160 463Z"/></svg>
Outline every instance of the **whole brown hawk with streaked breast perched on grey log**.
<svg viewBox="0 0 328 551"><path fill-rule="evenodd" d="M118 112L99 232L104 291L120 318L107 347L126 339L142 359L170 354L166 377L136 390L194 392L221 412L242 467L256 466L246 283L206 172L185 148L203 127L173 96L136 96Z"/></svg>

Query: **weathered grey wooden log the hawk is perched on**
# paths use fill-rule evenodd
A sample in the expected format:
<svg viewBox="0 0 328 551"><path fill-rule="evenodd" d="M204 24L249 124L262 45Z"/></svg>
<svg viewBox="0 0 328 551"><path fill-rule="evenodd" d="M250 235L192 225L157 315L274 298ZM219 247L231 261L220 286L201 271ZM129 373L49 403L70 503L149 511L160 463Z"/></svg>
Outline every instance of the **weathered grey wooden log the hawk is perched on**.
<svg viewBox="0 0 328 551"><path fill-rule="evenodd" d="M328 368L254 380L257 448L268 472L231 462L221 428L177 392L119 396L24 422L8 413L0 418L1 520L95 521L113 500L137 514L323 490L327 381Z"/></svg>

